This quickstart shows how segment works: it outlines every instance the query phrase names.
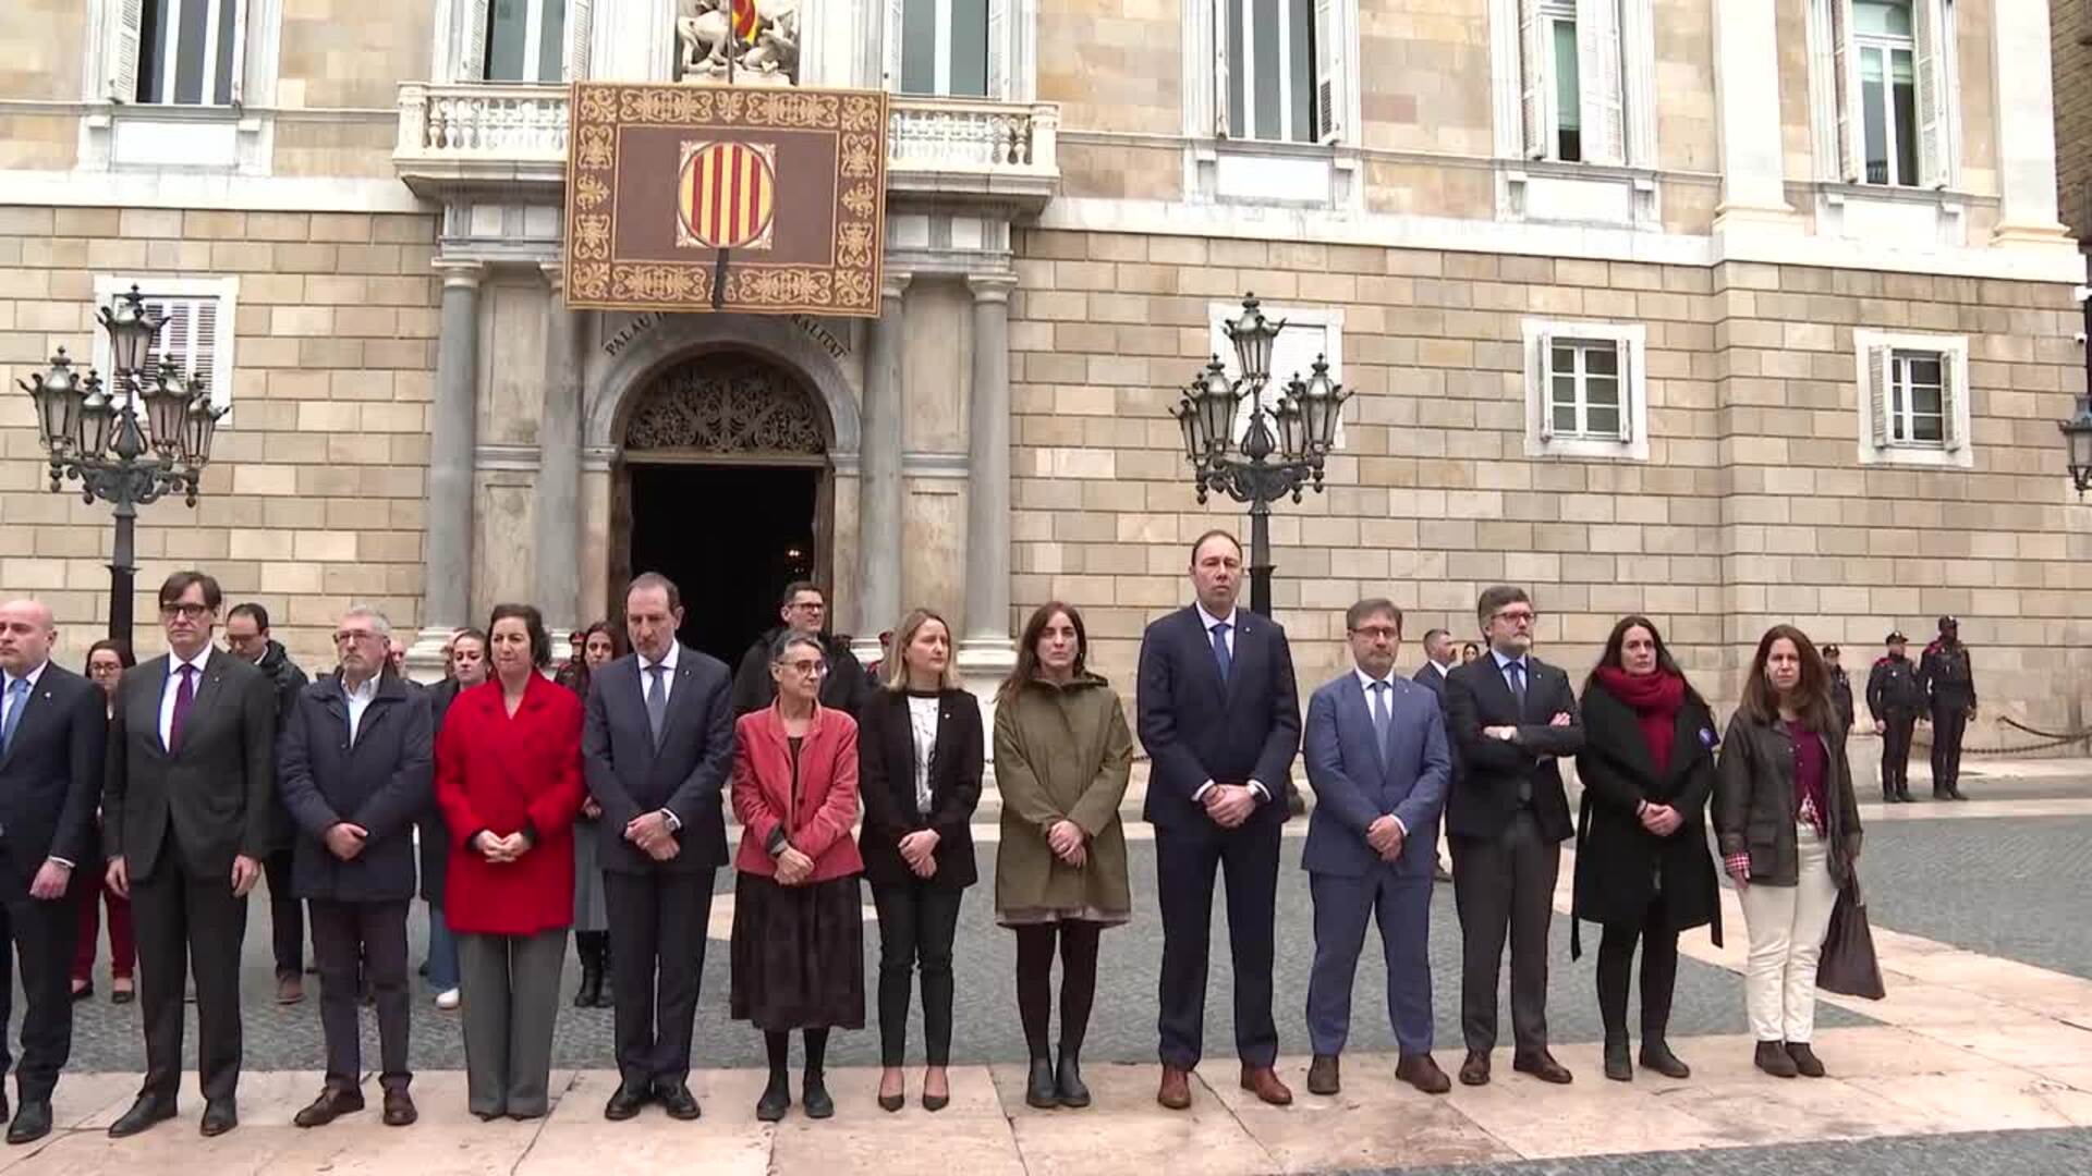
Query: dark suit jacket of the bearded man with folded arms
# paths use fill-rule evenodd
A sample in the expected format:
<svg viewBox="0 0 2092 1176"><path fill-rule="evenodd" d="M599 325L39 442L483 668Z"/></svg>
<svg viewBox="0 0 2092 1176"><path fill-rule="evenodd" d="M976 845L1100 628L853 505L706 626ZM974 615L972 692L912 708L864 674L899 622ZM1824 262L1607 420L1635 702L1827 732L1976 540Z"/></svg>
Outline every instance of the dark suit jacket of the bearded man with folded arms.
<svg viewBox="0 0 2092 1176"><path fill-rule="evenodd" d="M1500 835L1519 812L1519 781L1531 783L1542 837L1567 841L1575 833L1556 764L1584 751L1575 691L1567 674L1531 653L1525 655L1525 670L1523 714L1494 653L1446 676L1446 734L1460 766L1446 801L1446 831L1454 837ZM1556 714L1567 714L1569 726L1548 726ZM1519 739L1487 739L1481 734L1485 726L1517 726Z"/></svg>

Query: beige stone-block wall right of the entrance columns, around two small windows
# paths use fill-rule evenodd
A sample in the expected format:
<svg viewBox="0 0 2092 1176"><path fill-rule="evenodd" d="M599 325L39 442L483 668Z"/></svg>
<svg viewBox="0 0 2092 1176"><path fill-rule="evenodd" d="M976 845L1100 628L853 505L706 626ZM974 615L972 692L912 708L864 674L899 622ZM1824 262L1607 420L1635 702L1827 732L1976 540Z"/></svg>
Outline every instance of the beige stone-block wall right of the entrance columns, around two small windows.
<svg viewBox="0 0 2092 1176"><path fill-rule="evenodd" d="M2084 379L2067 287L1073 232L1025 234L1019 272L1013 598L1084 607L1094 665L1128 688L1142 626L1186 601L1188 542L1247 523L1195 504L1165 410L1207 303L1253 289L1343 306L1358 389L1328 492L1272 525L1303 686L1343 663L1354 598L1391 596L1412 640L1471 636L1479 588L1510 580L1575 676L1630 611L1724 701L1772 621L1864 668L1891 624L1956 613L1987 701L2036 722L2073 705L2092 542L2052 425ZM1648 326L1648 462L1525 458L1527 314ZM1856 326L1969 335L1973 471L1858 465Z"/></svg>

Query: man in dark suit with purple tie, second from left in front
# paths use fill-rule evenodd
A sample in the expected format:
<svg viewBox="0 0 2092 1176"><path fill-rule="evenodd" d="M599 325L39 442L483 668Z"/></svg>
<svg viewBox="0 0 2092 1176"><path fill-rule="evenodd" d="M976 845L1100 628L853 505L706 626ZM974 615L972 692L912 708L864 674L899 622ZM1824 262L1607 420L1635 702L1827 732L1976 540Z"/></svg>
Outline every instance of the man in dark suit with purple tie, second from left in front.
<svg viewBox="0 0 2092 1176"><path fill-rule="evenodd" d="M182 963L197 979L203 1134L238 1124L241 942L262 877L276 787L276 691L243 657L211 649L224 594L201 571L159 588L167 651L123 674L109 724L103 841L109 887L138 921L144 1086L111 1136L176 1113Z"/></svg>

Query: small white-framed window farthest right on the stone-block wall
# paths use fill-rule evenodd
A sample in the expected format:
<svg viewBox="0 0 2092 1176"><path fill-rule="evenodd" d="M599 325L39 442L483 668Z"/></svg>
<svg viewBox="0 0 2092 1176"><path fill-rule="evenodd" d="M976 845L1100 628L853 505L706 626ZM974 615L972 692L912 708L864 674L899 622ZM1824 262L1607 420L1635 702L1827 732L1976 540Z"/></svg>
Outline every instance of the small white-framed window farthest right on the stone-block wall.
<svg viewBox="0 0 2092 1176"><path fill-rule="evenodd" d="M1969 467L1969 339L1856 331L1860 460Z"/></svg>

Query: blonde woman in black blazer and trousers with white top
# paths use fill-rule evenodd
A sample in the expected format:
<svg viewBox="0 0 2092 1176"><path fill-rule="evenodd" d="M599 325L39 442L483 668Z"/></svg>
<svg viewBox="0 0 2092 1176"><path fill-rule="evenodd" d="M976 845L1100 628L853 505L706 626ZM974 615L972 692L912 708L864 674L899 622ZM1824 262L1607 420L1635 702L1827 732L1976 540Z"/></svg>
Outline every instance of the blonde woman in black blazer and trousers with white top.
<svg viewBox="0 0 2092 1176"><path fill-rule="evenodd" d="M929 609L893 636L885 688L858 716L864 879L879 908L879 1105L908 1101L910 973L923 967L923 1107L952 1099L952 937L958 900L979 877L969 822L981 804L981 705L958 688L952 630Z"/></svg>

